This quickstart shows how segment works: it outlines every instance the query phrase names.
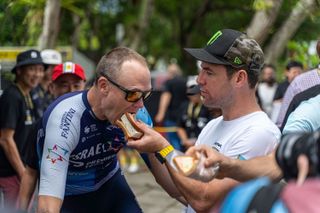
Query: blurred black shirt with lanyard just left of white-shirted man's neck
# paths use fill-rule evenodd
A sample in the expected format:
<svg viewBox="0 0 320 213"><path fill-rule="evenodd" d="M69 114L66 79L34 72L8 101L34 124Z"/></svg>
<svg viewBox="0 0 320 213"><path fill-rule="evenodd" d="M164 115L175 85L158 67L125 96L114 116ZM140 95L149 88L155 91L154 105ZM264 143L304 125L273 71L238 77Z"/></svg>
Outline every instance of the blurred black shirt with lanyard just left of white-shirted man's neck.
<svg viewBox="0 0 320 213"><path fill-rule="evenodd" d="M198 138L203 127L212 119L208 108L190 102L184 102L180 112L177 126L186 130L188 138Z"/></svg>

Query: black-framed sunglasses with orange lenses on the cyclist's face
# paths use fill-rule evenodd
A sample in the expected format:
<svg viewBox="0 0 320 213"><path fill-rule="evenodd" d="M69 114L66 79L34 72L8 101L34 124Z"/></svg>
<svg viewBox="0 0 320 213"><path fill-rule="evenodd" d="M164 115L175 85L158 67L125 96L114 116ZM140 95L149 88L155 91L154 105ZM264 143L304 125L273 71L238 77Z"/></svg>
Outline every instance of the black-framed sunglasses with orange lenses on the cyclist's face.
<svg viewBox="0 0 320 213"><path fill-rule="evenodd" d="M117 88L119 88L120 90L122 90L125 94L126 94L126 101L128 102L137 102L139 101L140 99L142 100L146 100L147 98L150 97L151 93L152 93L152 90L150 91L138 91L138 90L128 90L126 88L124 88L123 86L117 84L116 82L114 82L113 80L111 80L109 78L109 76L107 76L106 74L104 73L100 73L103 77L105 77L110 83L112 83L114 86L116 86Z"/></svg>

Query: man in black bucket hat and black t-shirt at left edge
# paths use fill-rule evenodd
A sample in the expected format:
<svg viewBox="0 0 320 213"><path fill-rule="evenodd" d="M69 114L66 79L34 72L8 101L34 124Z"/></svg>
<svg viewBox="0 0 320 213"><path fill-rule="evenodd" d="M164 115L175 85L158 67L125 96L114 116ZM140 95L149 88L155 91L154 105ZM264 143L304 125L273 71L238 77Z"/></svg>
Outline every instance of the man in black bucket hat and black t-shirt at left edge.
<svg viewBox="0 0 320 213"><path fill-rule="evenodd" d="M27 136L36 121L30 91L44 72L40 52L30 49L19 53L12 72L15 83L0 98L0 188L7 208L17 201L29 146Z"/></svg>

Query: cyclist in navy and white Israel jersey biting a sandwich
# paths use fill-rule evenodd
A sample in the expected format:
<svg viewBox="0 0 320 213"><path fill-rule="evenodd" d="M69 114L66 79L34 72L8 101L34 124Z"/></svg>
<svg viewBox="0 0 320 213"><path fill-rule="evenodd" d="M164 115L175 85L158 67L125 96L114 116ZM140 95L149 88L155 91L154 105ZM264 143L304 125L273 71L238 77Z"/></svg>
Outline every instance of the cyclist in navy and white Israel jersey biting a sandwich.
<svg viewBox="0 0 320 213"><path fill-rule="evenodd" d="M38 212L142 212L117 160L126 139L115 126L151 94L140 54L126 47L106 53L89 89L68 93L45 112L38 129Z"/></svg>

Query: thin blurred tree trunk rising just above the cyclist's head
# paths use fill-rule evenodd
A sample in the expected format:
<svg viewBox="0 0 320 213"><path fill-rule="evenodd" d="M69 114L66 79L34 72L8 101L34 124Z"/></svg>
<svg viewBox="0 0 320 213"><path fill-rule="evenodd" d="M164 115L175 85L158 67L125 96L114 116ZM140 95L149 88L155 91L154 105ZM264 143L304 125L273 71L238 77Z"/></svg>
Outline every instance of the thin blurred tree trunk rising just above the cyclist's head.
<svg viewBox="0 0 320 213"><path fill-rule="evenodd" d="M140 46L141 40L143 39L143 36L144 36L144 32L149 25L149 20L153 11L153 7L154 7L154 0L142 1L138 29L130 45L130 47L134 50L138 49L138 47Z"/></svg>

